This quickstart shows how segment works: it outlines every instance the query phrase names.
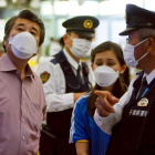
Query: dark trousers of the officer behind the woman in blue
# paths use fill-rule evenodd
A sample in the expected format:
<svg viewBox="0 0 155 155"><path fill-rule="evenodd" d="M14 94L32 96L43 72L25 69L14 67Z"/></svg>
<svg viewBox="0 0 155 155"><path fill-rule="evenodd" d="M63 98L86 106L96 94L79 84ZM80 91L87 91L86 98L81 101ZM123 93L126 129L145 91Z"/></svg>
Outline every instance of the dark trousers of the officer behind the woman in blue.
<svg viewBox="0 0 155 155"><path fill-rule="evenodd" d="M69 137L51 134L42 130L40 155L76 155L75 144L69 144Z"/></svg>

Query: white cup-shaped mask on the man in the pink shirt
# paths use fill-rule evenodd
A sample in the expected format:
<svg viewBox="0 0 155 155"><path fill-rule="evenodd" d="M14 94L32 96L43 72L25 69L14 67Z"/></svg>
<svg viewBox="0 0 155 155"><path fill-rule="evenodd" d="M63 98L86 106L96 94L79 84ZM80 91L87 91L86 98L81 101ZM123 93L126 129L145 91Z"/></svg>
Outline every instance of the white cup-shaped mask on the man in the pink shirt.
<svg viewBox="0 0 155 155"><path fill-rule="evenodd" d="M21 32L10 37L9 44L11 44L13 54L19 59L30 59L38 52L37 40L30 32Z"/></svg>

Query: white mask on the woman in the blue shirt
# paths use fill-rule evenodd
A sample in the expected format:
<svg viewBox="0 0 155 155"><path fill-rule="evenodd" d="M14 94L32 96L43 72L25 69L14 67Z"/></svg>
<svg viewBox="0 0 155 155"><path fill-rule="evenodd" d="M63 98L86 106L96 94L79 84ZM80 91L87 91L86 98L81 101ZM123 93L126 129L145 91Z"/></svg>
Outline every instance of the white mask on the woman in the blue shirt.
<svg viewBox="0 0 155 155"><path fill-rule="evenodd" d="M100 86L110 86L118 78L118 71L115 72L112 68L102 65L97 66L94 71L95 74L95 81Z"/></svg>

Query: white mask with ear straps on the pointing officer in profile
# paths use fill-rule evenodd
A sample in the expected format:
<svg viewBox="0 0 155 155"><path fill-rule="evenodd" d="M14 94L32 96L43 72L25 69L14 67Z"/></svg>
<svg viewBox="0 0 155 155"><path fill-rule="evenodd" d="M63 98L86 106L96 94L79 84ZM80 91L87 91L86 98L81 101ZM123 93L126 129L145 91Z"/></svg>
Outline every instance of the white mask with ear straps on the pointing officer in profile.
<svg viewBox="0 0 155 155"><path fill-rule="evenodd" d="M123 55L124 55L124 60L126 62L126 64L131 68L136 68L136 65L138 64L138 61L142 60L144 56L146 56L148 54L145 53L142 58L140 58L137 61L135 60L134 56L134 49L135 46L140 45L141 43L145 42L147 39L141 41L140 43L137 43L136 45L132 45L126 43L124 50L123 50Z"/></svg>

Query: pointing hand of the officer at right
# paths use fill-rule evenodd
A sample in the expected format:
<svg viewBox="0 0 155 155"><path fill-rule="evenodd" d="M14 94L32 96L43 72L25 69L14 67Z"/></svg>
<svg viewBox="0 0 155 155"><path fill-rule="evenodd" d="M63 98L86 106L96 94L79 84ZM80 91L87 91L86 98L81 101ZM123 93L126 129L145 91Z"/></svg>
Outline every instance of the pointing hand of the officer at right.
<svg viewBox="0 0 155 155"><path fill-rule="evenodd" d="M107 91L94 91L94 94L99 95L95 106L100 111L101 116L105 117L110 115L110 113L115 112L113 105L118 102L118 99Z"/></svg>

